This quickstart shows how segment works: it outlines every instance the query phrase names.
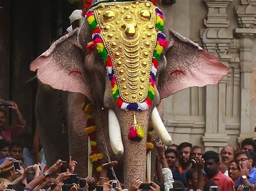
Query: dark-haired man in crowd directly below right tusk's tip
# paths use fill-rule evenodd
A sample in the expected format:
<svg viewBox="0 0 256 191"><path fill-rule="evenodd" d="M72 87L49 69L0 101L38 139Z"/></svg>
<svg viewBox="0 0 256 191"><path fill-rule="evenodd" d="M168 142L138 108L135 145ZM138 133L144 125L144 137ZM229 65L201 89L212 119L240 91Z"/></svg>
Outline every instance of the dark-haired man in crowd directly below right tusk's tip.
<svg viewBox="0 0 256 191"><path fill-rule="evenodd" d="M176 150L173 150L172 148L167 148L167 150L165 151L165 158L169 168L172 171L173 179L178 180L180 175L176 166L178 162L178 152Z"/></svg>

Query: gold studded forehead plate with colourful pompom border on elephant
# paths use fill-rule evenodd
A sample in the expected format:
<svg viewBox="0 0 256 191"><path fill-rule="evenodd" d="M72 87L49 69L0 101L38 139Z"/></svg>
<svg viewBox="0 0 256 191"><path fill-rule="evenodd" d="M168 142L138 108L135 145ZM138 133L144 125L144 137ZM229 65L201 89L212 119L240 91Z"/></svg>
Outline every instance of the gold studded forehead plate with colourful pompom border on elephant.
<svg viewBox="0 0 256 191"><path fill-rule="evenodd" d="M151 102L154 98L158 63L154 66L152 62L157 61L154 54L159 44L159 15L163 24L163 14L157 10L151 2L112 2L101 3L86 14L93 43L106 64L120 108L145 110L152 105L144 102L149 91Z"/></svg>

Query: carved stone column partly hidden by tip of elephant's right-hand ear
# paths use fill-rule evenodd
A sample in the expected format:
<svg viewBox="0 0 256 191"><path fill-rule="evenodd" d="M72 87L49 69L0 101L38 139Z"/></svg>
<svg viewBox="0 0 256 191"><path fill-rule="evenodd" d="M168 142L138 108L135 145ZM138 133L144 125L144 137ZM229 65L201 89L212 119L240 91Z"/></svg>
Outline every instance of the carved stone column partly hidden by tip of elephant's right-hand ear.
<svg viewBox="0 0 256 191"><path fill-rule="evenodd" d="M231 60L228 48L233 39L226 10L232 1L204 0L208 15L204 20L206 29L200 31L206 51L217 56L226 66ZM224 77L219 84L206 87L206 130L203 137L206 151L219 151L229 140L225 130L226 83L227 77Z"/></svg>

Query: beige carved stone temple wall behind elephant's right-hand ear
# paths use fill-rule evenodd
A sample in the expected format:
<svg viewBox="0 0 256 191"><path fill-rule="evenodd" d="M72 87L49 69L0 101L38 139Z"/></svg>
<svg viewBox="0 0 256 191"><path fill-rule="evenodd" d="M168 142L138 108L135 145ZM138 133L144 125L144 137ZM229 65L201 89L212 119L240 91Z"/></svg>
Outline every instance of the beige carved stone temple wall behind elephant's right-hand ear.
<svg viewBox="0 0 256 191"><path fill-rule="evenodd" d="M173 143L220 151L256 137L256 1L178 0L163 6L165 26L198 43L226 66L219 84L192 87L164 100Z"/></svg>

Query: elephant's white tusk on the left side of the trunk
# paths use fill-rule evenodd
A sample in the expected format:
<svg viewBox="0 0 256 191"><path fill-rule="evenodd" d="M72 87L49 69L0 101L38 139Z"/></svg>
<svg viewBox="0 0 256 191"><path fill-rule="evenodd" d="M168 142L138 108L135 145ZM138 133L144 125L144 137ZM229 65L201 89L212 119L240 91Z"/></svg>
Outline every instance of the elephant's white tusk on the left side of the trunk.
<svg viewBox="0 0 256 191"><path fill-rule="evenodd" d="M124 146L120 125L117 116L112 109L109 109L109 139L113 153L117 156L122 155L124 153Z"/></svg>

